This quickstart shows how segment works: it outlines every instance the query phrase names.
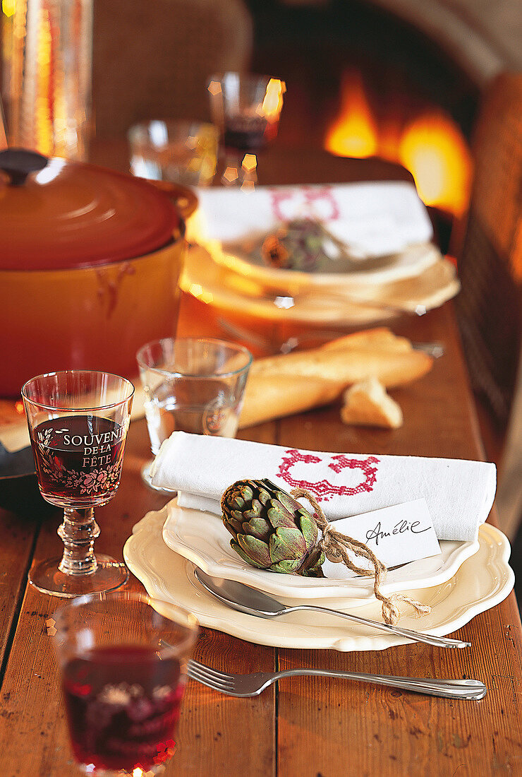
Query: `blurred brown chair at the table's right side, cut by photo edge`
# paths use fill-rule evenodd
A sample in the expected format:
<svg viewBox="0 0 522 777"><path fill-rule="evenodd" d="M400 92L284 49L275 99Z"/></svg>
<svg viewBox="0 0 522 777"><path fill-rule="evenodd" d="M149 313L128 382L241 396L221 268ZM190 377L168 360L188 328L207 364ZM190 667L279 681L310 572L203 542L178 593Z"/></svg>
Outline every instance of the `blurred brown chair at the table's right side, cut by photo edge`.
<svg viewBox="0 0 522 777"><path fill-rule="evenodd" d="M513 538L522 518L522 73L500 75L486 90L473 155L455 306L472 387L502 441L496 504Z"/></svg>

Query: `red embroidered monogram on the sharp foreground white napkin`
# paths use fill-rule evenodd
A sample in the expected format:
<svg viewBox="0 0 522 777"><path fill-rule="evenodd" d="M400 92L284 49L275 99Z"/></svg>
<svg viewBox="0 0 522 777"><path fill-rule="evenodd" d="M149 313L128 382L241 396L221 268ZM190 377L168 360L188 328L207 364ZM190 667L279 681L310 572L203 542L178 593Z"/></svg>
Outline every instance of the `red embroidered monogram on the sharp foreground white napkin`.
<svg viewBox="0 0 522 777"><path fill-rule="evenodd" d="M362 493L364 491L373 491L375 486L375 479L377 477L377 467L379 464L379 458L375 456L368 456L368 458L348 458L344 453L337 454L331 457L331 462L327 464L327 467L333 469L334 472L341 472L343 469L360 469L361 479L360 483L354 486L348 486L346 484L341 486L334 486L333 483L327 478L321 480L298 480L292 475L292 469L299 463L302 464L320 464L325 463L324 458L314 456L308 453L301 453L296 448L290 448L285 451L285 455L282 457L282 462L279 465L278 476L282 478L285 483L288 483L292 488L305 488L311 491L316 496L318 502L327 502L334 496L339 497L353 497L356 493Z"/></svg>

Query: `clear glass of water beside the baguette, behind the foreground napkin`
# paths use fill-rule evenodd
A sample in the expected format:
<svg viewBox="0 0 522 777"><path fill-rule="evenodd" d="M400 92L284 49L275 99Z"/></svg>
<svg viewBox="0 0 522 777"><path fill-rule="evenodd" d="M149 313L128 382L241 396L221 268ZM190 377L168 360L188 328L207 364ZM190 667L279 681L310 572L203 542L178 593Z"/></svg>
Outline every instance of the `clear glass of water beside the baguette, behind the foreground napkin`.
<svg viewBox="0 0 522 777"><path fill-rule="evenodd" d="M154 340L137 353L154 455L174 431L235 437L252 355L211 338ZM150 462L143 479L150 485Z"/></svg>

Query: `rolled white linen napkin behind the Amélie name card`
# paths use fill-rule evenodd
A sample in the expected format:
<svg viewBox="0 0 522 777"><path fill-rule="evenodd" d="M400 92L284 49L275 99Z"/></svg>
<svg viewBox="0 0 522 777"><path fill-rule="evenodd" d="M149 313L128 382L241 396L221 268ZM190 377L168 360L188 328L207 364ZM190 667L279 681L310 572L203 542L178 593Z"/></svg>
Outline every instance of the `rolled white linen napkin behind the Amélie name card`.
<svg viewBox="0 0 522 777"><path fill-rule="evenodd" d="M417 456L299 451L226 437L174 432L161 445L154 486L178 491L178 505L221 514L236 480L268 478L283 490L306 488L329 521L426 500L439 539L475 540L496 490L487 462Z"/></svg>

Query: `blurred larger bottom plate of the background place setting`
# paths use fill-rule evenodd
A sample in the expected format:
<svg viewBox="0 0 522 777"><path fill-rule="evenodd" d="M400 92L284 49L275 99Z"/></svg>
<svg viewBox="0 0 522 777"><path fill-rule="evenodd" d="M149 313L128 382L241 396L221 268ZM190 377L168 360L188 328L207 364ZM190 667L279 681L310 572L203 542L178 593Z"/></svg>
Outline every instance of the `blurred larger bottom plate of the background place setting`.
<svg viewBox="0 0 522 777"><path fill-rule="evenodd" d="M202 246L188 249L181 274L181 289L208 305L268 322L300 321L364 326L389 320L401 313L437 308L460 289L454 265L448 260L430 264L420 275L395 283L266 288L247 275L213 261Z"/></svg>

